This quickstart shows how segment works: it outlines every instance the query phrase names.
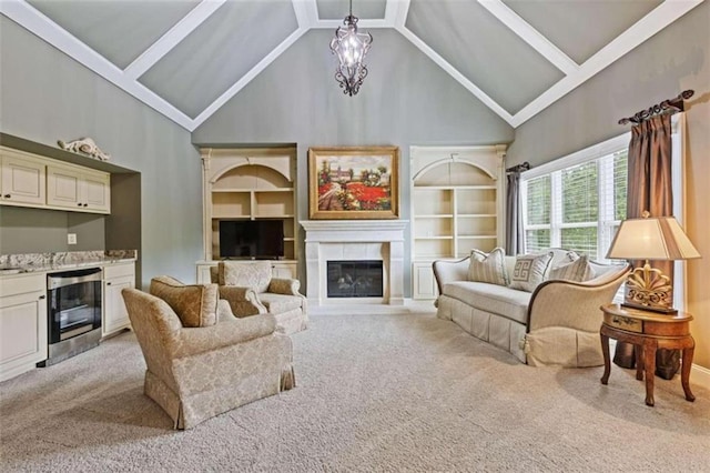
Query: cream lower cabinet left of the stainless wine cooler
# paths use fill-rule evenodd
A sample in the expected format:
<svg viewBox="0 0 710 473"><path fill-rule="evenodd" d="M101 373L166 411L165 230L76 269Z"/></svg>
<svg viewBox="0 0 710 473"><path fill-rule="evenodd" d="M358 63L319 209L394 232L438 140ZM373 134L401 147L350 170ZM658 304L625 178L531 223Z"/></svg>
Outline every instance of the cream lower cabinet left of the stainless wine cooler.
<svg viewBox="0 0 710 473"><path fill-rule="evenodd" d="M0 280L0 381L47 360L47 282L44 273Z"/></svg>

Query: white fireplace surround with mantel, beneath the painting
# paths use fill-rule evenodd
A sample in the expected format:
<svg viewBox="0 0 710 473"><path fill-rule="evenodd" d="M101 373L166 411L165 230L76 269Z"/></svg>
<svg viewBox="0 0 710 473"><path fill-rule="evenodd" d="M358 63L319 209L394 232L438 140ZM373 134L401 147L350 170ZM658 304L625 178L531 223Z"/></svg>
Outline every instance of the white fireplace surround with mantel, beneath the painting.
<svg viewBox="0 0 710 473"><path fill-rule="evenodd" d="M408 220L306 220L306 298L310 305L404 304L404 230ZM328 298L327 262L382 260L383 298Z"/></svg>

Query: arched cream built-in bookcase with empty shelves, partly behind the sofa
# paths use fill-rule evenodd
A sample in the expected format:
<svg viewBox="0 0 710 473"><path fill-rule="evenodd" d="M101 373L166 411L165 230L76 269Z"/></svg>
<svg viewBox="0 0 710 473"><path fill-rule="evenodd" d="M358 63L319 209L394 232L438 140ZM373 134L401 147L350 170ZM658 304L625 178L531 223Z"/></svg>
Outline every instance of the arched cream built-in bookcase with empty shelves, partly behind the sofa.
<svg viewBox="0 0 710 473"><path fill-rule="evenodd" d="M505 145L412 147L414 299L437 296L432 262L501 246Z"/></svg>

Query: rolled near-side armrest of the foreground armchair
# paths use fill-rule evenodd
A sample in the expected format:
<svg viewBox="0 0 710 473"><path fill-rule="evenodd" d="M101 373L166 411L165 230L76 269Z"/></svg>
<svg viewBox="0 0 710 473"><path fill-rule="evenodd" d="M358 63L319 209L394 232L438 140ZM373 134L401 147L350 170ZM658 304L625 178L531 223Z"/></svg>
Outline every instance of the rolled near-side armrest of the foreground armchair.
<svg viewBox="0 0 710 473"><path fill-rule="evenodd" d="M212 326L185 328L178 334L172 354L176 359L192 356L267 336L275 330L276 319L272 314L234 319Z"/></svg>

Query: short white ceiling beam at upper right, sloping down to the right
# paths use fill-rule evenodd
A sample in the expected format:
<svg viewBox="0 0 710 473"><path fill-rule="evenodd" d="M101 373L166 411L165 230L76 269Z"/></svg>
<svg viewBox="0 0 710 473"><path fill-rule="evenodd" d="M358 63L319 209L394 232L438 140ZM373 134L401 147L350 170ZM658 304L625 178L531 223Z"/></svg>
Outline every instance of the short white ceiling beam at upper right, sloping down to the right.
<svg viewBox="0 0 710 473"><path fill-rule="evenodd" d="M571 74L579 69L579 64L572 61L569 56L552 44L501 0L478 0L478 3L565 74Z"/></svg>

